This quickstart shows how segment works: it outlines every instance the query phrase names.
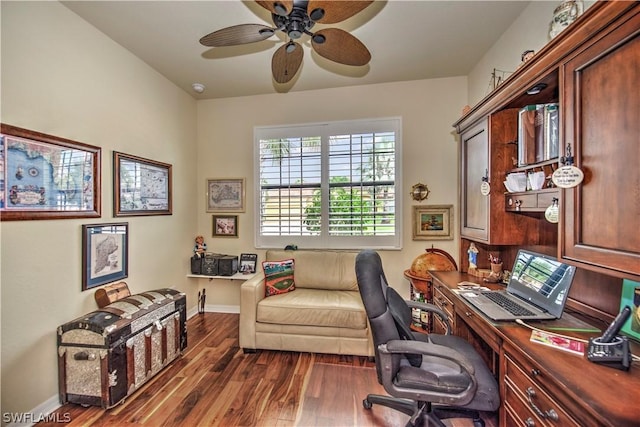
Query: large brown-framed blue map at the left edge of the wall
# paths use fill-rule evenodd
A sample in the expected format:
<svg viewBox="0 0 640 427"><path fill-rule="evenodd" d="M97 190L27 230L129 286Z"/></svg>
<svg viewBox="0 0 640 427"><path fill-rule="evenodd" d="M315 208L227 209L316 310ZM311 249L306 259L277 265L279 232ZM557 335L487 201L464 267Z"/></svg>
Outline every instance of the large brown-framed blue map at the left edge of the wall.
<svg viewBox="0 0 640 427"><path fill-rule="evenodd" d="M101 149L0 125L0 220L99 218Z"/></svg>

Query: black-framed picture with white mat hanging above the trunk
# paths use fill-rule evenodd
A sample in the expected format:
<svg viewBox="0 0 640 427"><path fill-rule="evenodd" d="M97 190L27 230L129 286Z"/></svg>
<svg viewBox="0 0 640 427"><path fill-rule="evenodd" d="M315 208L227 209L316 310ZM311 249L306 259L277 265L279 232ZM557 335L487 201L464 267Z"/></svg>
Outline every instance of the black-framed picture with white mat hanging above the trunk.
<svg viewBox="0 0 640 427"><path fill-rule="evenodd" d="M127 277L129 223L82 226L82 290Z"/></svg>

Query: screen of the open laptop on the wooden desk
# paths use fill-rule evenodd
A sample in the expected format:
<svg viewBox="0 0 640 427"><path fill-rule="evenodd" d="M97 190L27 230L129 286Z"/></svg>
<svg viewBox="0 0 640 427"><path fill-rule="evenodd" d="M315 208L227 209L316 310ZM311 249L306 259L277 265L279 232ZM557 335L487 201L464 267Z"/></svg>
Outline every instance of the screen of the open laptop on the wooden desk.
<svg viewBox="0 0 640 427"><path fill-rule="evenodd" d="M548 255L520 249L507 291L560 317L576 268Z"/></svg>

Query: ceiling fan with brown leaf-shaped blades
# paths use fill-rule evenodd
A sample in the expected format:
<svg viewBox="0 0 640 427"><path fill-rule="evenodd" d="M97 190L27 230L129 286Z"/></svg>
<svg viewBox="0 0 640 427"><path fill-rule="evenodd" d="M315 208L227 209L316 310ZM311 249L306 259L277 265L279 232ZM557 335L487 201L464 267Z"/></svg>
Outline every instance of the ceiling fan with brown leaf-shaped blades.
<svg viewBox="0 0 640 427"><path fill-rule="evenodd" d="M323 28L311 32L318 24L335 24L352 17L373 1L276 0L258 1L272 14L273 27L261 24L241 24L214 31L200 39L209 47L235 46L266 40L282 31L289 41L278 48L271 59L273 79L289 82L302 64L302 46L295 40L311 37L311 46L318 55L331 61L361 66L371 60L371 53L356 37L339 28Z"/></svg>

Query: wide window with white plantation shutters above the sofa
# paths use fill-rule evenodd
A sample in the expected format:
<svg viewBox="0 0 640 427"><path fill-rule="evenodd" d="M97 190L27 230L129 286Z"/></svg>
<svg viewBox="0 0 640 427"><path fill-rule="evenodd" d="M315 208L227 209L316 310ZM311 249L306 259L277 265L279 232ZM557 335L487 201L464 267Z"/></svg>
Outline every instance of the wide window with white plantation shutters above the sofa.
<svg viewBox="0 0 640 427"><path fill-rule="evenodd" d="M401 247L399 118L255 129L256 247Z"/></svg>

